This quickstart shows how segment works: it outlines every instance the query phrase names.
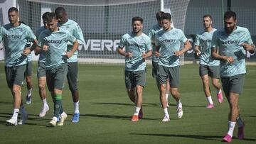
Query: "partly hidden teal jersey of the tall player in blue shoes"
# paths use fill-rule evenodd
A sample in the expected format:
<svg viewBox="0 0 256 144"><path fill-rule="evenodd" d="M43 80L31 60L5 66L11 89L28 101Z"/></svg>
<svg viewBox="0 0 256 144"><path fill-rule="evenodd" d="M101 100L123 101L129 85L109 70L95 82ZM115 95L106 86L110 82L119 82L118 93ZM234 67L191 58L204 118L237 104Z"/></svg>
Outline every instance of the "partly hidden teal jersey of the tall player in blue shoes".
<svg viewBox="0 0 256 144"><path fill-rule="evenodd" d="M73 35L77 40L79 45L83 45L85 43L85 38L82 35L82 29L73 20L68 20L67 22L60 24L60 28L66 28L71 35ZM68 51L72 50L73 43L68 43ZM78 61L78 50L68 59L68 62L77 62Z"/></svg>

